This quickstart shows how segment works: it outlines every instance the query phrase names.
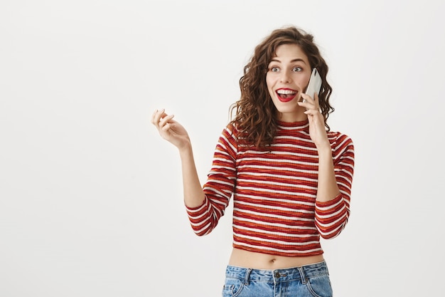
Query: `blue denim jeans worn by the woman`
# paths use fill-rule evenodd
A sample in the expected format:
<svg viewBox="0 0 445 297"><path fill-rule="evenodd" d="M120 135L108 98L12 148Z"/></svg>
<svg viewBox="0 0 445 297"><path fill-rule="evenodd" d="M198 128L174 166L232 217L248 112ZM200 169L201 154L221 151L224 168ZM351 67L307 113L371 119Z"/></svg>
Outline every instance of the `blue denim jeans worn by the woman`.
<svg viewBox="0 0 445 297"><path fill-rule="evenodd" d="M331 297L326 262L290 269L227 266L223 297Z"/></svg>

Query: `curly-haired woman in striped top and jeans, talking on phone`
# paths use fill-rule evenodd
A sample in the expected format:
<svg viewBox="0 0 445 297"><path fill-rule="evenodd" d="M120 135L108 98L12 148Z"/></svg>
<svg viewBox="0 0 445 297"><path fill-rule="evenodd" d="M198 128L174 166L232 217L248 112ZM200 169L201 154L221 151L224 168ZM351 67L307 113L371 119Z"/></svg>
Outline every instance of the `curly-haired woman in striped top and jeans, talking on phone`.
<svg viewBox="0 0 445 297"><path fill-rule="evenodd" d="M311 71L319 95L305 94ZM201 186L186 130L164 110L152 123L181 155L184 202L199 236L218 224L233 197L233 249L223 296L332 296L320 236L348 222L354 148L326 120L332 88L313 36L273 31L240 79L236 115L222 132Z"/></svg>

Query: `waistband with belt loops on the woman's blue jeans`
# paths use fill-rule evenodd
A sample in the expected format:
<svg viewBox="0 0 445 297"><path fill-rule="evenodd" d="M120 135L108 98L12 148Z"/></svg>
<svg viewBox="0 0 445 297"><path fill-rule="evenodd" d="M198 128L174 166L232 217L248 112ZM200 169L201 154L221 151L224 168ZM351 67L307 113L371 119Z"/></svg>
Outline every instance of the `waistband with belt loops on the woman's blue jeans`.
<svg viewBox="0 0 445 297"><path fill-rule="evenodd" d="M229 265L225 270L225 276L227 278L243 279L245 280L245 283L249 283L249 281L277 283L280 281L294 281L298 279L301 279L301 281L306 283L307 278L323 274L328 274L328 266L325 261L305 266L274 270L248 269Z"/></svg>

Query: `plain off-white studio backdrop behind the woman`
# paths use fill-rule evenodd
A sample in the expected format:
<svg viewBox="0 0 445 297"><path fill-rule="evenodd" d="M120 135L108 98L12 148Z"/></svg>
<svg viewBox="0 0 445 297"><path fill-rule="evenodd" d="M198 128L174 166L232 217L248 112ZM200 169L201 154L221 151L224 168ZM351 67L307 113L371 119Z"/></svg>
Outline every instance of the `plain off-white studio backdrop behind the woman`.
<svg viewBox="0 0 445 297"><path fill-rule="evenodd" d="M348 226L322 241L335 296L441 296L444 1L1 1L0 296L220 296L231 211L198 237L201 182L254 46L313 33L332 130L353 138Z"/></svg>

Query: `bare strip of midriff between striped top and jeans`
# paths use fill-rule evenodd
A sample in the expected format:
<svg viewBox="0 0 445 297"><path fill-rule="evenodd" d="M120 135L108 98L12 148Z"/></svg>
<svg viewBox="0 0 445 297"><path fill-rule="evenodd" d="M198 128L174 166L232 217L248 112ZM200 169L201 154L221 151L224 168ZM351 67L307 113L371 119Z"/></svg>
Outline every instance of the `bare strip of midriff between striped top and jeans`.
<svg viewBox="0 0 445 297"><path fill-rule="evenodd" d="M323 261L323 255L274 256L234 248L230 255L229 265L250 269L274 270L315 264L321 261Z"/></svg>

